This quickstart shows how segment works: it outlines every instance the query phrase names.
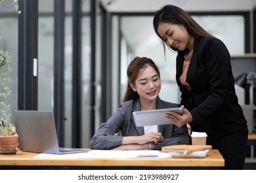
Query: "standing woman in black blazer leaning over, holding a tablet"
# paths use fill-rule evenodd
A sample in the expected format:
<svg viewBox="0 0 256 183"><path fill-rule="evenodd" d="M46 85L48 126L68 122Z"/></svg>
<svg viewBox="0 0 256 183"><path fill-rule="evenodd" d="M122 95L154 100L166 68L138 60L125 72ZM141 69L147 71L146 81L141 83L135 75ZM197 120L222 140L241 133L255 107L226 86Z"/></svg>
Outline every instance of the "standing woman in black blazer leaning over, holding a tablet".
<svg viewBox="0 0 256 183"><path fill-rule="evenodd" d="M207 33L179 7L165 5L154 16L154 29L177 52L176 80L183 115L167 118L181 127L207 133L207 144L225 159L224 169L244 169L247 122L234 89L230 54L222 41Z"/></svg>

